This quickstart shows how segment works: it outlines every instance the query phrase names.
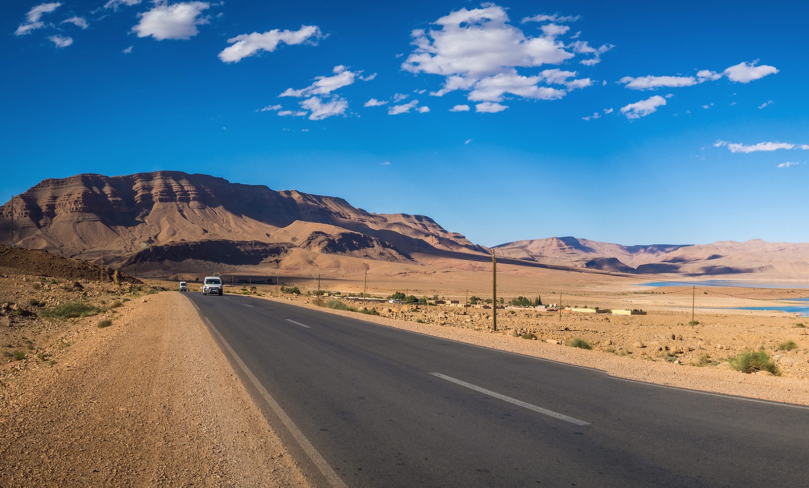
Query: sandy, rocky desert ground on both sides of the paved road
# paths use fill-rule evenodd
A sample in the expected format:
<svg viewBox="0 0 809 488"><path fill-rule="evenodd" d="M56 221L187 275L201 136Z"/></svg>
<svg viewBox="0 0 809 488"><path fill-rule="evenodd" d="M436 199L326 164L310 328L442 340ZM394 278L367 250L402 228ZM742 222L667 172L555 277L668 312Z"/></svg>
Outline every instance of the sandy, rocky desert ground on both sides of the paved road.
<svg viewBox="0 0 809 488"><path fill-rule="evenodd" d="M93 267L41 267L37 256L48 259L36 253L23 266L6 260L0 267L0 484L307 486L210 331L176 291L179 280L188 280L188 292L198 293L200 274L116 283ZM559 306L503 305L493 330L495 309L463 306L470 297L481 303L491 297L486 267L378 267L367 276L362 269L276 277L226 270L226 296L208 299L242 294L293 301L629 381L809 406L809 319L739 309L775 309L807 297L800 280L785 281L791 286L784 288L658 288L643 283L659 276L498 264L498 298L540 297ZM394 292L427 300L384 300ZM364 300L365 293L379 298ZM92 313L46 313L77 301ZM329 308L337 303L345 309ZM645 314L574 310L596 307ZM573 347L574 339L591 350ZM765 351L776 374L735 371L731 364L744 351Z"/></svg>

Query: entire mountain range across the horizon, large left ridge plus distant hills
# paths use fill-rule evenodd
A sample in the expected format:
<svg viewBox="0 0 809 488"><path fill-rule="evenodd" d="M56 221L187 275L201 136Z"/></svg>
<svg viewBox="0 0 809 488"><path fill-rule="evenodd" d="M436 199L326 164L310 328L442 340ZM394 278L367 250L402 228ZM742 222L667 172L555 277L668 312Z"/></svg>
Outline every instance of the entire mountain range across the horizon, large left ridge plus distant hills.
<svg viewBox="0 0 809 488"><path fill-rule="evenodd" d="M378 214L341 198L273 191L210 175L156 171L45 179L14 199L17 246L128 271L358 271L485 262L488 248L430 217ZM0 242L11 242L11 202ZM621 246L544 238L493 248L527 267L673 276L809 276L809 244Z"/></svg>

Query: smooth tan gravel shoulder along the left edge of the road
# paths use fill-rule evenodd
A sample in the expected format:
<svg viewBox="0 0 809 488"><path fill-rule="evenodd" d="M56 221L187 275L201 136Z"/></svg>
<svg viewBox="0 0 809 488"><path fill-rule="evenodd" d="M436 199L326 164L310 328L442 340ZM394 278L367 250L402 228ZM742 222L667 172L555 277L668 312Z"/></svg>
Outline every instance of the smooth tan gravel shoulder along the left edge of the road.
<svg viewBox="0 0 809 488"><path fill-rule="evenodd" d="M308 486L193 305L139 302L7 381L0 486Z"/></svg>

